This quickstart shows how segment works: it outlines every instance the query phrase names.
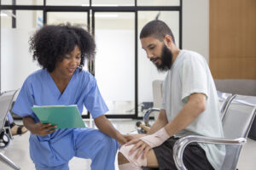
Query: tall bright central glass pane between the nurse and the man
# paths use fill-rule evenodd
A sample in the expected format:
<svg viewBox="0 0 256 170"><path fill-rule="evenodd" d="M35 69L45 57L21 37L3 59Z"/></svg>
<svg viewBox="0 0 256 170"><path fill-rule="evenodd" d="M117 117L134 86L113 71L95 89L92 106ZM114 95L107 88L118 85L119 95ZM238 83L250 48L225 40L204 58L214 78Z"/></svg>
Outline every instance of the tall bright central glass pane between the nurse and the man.
<svg viewBox="0 0 256 170"><path fill-rule="evenodd" d="M134 114L134 13L95 15L95 76L108 114Z"/></svg>

